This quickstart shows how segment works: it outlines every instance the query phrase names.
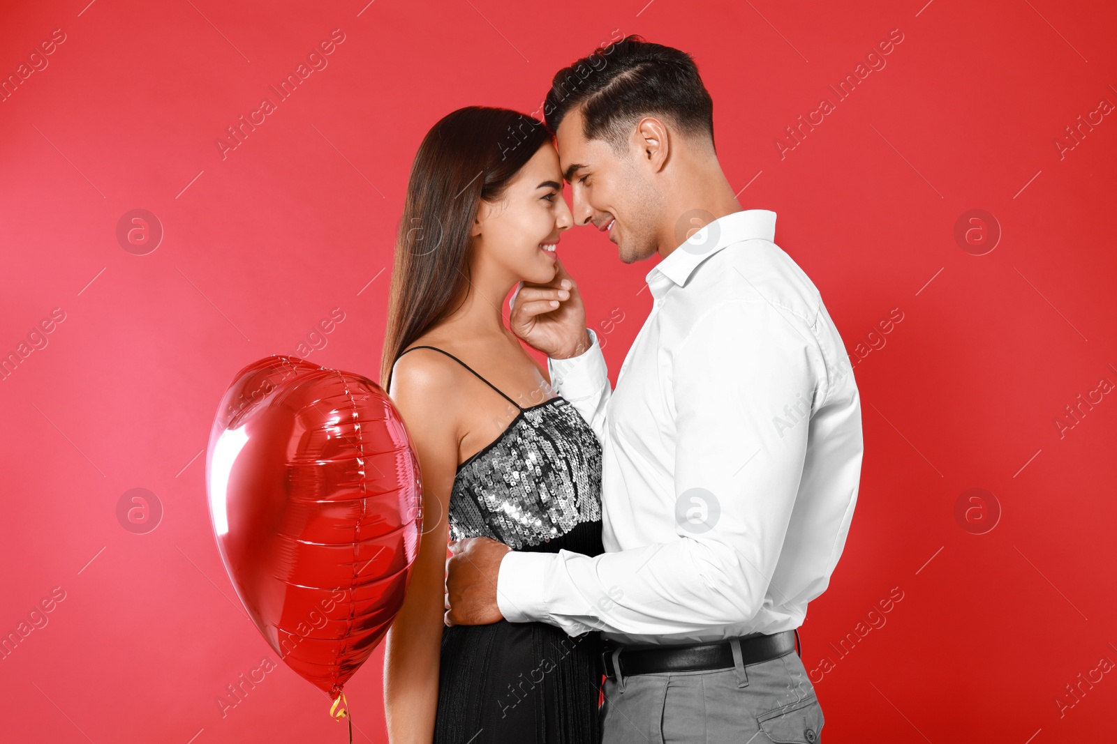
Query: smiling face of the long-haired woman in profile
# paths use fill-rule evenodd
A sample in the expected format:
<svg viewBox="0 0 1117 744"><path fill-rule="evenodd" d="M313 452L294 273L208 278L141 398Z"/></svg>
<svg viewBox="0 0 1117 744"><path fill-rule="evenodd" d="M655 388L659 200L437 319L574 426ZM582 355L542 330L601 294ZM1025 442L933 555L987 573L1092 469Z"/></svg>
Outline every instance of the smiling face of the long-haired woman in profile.
<svg viewBox="0 0 1117 744"><path fill-rule="evenodd" d="M554 279L555 248L573 224L562 197L558 153L547 142L508 183L499 202L481 200L471 234L477 258L504 268L516 281Z"/></svg>

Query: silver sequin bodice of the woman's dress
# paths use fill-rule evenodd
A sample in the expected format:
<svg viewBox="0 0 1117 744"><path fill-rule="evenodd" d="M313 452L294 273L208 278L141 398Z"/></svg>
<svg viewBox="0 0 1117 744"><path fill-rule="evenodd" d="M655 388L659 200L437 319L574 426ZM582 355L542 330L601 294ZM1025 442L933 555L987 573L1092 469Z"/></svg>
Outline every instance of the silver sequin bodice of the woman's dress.
<svg viewBox="0 0 1117 744"><path fill-rule="evenodd" d="M484 535L514 550L599 521L601 443L561 396L521 408L458 466L449 511L451 540Z"/></svg>

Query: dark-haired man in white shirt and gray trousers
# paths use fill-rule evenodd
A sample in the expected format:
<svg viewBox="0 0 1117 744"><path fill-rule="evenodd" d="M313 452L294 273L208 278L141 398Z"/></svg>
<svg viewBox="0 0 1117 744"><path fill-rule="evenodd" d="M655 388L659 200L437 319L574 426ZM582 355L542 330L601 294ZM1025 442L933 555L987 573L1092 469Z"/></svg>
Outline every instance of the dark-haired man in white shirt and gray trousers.
<svg viewBox="0 0 1117 744"><path fill-rule="evenodd" d="M607 744L813 744L796 628L844 547L862 457L844 345L773 243L775 214L737 202L689 55L627 37L560 71L544 114L575 222L626 263L662 257L615 389L576 290L544 301L565 272L514 301L513 328L602 442L608 552L464 540L446 621L601 630Z"/></svg>

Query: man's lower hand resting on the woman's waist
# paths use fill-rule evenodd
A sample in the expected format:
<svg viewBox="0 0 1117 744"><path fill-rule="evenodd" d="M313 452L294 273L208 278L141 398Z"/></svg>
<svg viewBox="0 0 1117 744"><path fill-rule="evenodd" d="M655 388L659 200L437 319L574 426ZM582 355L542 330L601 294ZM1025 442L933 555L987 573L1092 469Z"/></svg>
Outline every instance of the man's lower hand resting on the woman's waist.
<svg viewBox="0 0 1117 744"><path fill-rule="evenodd" d="M447 626L489 625L503 620L496 602L500 561L512 549L488 538L450 542L454 555L446 560Z"/></svg>

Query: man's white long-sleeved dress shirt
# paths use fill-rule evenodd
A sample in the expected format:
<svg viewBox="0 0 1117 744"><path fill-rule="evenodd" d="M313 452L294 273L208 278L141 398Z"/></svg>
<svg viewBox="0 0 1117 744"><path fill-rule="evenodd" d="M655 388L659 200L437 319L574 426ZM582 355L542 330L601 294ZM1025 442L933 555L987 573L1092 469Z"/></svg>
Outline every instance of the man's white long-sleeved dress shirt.
<svg viewBox="0 0 1117 744"><path fill-rule="evenodd" d="M774 212L745 210L660 261L617 389L592 331L548 360L602 443L607 552L507 553L506 619L627 644L803 622L853 516L861 405L819 290L774 238Z"/></svg>

